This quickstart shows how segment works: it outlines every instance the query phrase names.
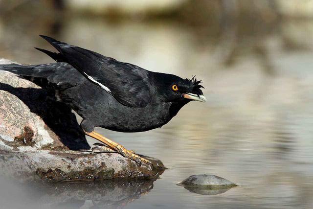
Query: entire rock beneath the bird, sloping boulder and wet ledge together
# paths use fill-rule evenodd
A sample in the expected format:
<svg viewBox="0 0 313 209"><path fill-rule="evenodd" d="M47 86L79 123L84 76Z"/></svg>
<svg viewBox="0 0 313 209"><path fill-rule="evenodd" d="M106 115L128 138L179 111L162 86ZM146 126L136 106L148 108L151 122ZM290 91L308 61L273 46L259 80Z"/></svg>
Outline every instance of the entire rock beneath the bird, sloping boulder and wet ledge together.
<svg viewBox="0 0 313 209"><path fill-rule="evenodd" d="M89 148L65 104L50 99L34 83L0 71L1 175L21 182L154 179L165 169L149 157L154 168L144 163L139 167L117 153L91 154Z"/></svg>

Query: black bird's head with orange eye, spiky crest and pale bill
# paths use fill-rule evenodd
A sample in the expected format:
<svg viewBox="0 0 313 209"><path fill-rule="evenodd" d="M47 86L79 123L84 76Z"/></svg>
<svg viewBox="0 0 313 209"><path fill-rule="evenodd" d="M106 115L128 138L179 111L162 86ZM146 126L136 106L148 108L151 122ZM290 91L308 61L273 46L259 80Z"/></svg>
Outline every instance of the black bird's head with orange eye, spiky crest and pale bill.
<svg viewBox="0 0 313 209"><path fill-rule="evenodd" d="M176 75L158 73L156 76L156 86L158 95L165 102L176 102L187 104L190 101L206 102L205 96L201 91L202 81L195 76L191 79L182 79Z"/></svg>

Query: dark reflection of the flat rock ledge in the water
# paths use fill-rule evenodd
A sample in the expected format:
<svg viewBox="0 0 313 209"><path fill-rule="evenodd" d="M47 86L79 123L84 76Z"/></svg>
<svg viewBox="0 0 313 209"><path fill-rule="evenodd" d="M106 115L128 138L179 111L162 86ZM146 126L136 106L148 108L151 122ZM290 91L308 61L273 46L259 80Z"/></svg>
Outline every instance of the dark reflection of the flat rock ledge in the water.
<svg viewBox="0 0 313 209"><path fill-rule="evenodd" d="M80 208L88 204L94 208L123 208L150 192L153 182L63 182L49 186L47 194L42 196L40 201L51 208Z"/></svg>

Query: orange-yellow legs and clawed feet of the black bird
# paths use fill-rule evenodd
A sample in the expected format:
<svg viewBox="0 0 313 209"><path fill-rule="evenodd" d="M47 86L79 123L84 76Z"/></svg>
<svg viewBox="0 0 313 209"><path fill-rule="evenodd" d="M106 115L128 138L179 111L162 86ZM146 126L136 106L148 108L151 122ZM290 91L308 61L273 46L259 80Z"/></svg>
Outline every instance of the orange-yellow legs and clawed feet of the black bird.
<svg viewBox="0 0 313 209"><path fill-rule="evenodd" d="M150 161L140 157L139 155L134 154L134 151L127 150L121 144L116 143L115 141L112 141L111 139L108 139L108 138L102 136L101 134L98 134L95 131L91 131L91 132L86 132L85 131L85 134L88 135L89 137L97 139L97 140L105 143L106 145L108 145L108 148L105 148L106 150L115 150L116 152L120 153L122 156L135 161L139 165L141 165L141 162L148 163L148 164L152 165L152 163Z"/></svg>

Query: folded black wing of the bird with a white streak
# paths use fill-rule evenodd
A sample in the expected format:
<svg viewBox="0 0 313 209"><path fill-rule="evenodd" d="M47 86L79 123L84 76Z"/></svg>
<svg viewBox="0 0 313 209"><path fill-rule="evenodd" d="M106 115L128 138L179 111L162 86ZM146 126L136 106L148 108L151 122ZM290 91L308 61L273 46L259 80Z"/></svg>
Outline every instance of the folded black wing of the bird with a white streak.
<svg viewBox="0 0 313 209"><path fill-rule="evenodd" d="M120 103L129 107L144 107L151 101L148 70L47 36L41 37L54 46L67 63Z"/></svg>

